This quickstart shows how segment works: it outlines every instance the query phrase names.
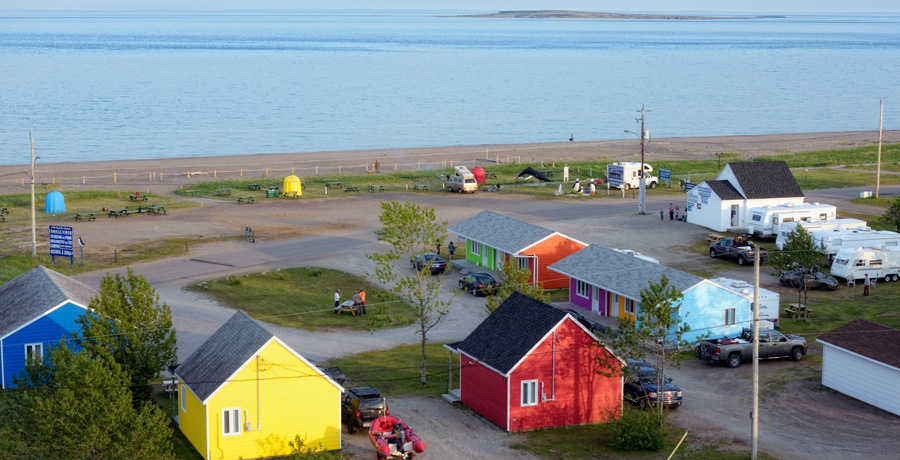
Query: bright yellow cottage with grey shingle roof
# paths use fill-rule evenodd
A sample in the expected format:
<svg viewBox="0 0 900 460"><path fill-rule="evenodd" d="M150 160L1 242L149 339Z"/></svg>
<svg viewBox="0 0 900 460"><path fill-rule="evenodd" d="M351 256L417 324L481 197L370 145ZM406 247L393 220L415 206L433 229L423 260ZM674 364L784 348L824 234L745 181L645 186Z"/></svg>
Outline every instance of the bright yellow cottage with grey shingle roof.
<svg viewBox="0 0 900 460"><path fill-rule="evenodd" d="M344 389L238 311L175 369L178 426L207 460L341 447Z"/></svg>

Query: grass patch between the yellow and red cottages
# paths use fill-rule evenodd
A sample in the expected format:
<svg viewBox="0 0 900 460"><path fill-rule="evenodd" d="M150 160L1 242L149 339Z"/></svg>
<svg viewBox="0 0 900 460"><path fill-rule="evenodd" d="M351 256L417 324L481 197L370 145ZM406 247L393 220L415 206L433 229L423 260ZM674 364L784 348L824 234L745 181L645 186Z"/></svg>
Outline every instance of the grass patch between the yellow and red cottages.
<svg viewBox="0 0 900 460"><path fill-rule="evenodd" d="M433 396L447 392L450 352L442 344L425 346L426 380L422 385L421 344L400 345L390 350L372 350L327 361L338 366L347 377L345 388L375 387L387 396ZM321 363L320 363L321 364ZM454 381L458 382L459 359L453 361ZM390 401L388 401L390 403Z"/></svg>

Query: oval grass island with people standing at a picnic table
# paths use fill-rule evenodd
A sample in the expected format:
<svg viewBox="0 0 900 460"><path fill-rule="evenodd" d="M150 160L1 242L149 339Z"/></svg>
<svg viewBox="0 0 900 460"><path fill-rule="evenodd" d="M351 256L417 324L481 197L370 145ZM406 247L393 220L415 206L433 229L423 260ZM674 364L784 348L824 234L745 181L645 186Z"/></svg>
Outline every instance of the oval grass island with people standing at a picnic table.
<svg viewBox="0 0 900 460"><path fill-rule="evenodd" d="M249 275L234 275L188 287L206 291L218 302L243 310L253 318L285 327L314 331L320 328L367 329L369 316L334 314L334 290L341 300L351 300L353 291L366 291L368 312L385 308L401 324L412 320L408 307L386 301L384 291L363 278L324 268L291 268ZM366 333L366 332L360 332Z"/></svg>

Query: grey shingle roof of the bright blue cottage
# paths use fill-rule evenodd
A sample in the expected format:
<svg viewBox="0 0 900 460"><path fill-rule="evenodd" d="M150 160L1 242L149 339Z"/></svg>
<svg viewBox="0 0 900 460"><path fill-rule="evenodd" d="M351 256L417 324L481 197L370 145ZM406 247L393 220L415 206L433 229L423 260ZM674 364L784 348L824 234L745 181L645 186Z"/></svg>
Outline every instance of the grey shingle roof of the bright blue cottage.
<svg viewBox="0 0 900 460"><path fill-rule="evenodd" d="M71 300L84 307L100 293L81 281L35 267L0 286L0 337Z"/></svg>

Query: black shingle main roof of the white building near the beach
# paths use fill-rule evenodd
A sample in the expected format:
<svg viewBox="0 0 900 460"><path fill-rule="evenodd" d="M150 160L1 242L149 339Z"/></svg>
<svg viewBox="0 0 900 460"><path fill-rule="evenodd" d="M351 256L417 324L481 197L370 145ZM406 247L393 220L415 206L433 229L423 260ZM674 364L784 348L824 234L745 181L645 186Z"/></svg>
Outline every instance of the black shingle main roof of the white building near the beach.
<svg viewBox="0 0 900 460"><path fill-rule="evenodd" d="M800 184L783 161L728 163L737 178L737 188L748 200L802 197Z"/></svg>

